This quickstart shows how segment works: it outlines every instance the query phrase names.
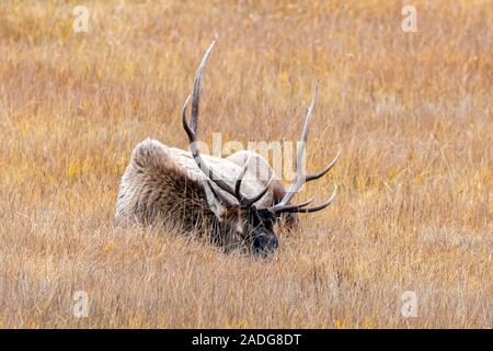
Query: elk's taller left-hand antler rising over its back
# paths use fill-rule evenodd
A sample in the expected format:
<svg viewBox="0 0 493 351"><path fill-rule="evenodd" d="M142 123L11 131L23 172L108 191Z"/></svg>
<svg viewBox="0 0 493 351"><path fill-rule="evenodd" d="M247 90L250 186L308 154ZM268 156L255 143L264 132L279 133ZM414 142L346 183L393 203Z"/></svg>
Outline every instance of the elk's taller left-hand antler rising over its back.
<svg viewBox="0 0 493 351"><path fill-rule="evenodd" d="M244 167L240 171L238 179L236 181L234 189L232 189L225 180L222 180L221 178L216 176L215 172L213 172L213 169L206 165L206 162L202 158L200 151L198 150L198 147L197 147L197 144L198 144L197 143L197 124L198 124L198 110L199 110L198 106L199 106L199 99L200 99L202 75L204 72L204 68L207 64L207 59L209 58L210 52L213 50L213 47L215 44L216 44L216 41L214 41L213 44L210 44L209 48L204 54L200 66L198 66L197 72L195 75L194 90L193 90L193 95L192 95L192 113L191 113L191 124L190 125L188 125L188 122L186 121L186 106L188 105L188 102L191 99L190 95L186 98L185 104L183 105L183 109L182 109L183 128L185 129L186 135L188 136L192 156L194 157L194 160L197 163L198 168L208 178L208 181L214 182L217 186L219 186L219 189L221 189L221 190L226 191L227 193L231 194L232 196L234 196L238 200L238 202L240 203L241 207L249 207L249 206L253 205L255 202L257 202L259 200L261 200L263 195L265 195L265 193L268 191L268 189L271 186L271 182L272 182L274 174L271 177L271 179L268 180L265 188L257 195L255 195L253 197L245 197L244 195L241 194L240 188L241 188L241 181L243 180L243 177L246 173L248 163L250 161L250 158L244 163ZM217 192L215 194L218 195ZM225 196L221 196L221 199L225 202L229 203L229 201Z"/></svg>

